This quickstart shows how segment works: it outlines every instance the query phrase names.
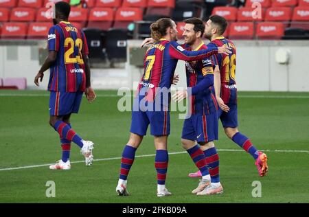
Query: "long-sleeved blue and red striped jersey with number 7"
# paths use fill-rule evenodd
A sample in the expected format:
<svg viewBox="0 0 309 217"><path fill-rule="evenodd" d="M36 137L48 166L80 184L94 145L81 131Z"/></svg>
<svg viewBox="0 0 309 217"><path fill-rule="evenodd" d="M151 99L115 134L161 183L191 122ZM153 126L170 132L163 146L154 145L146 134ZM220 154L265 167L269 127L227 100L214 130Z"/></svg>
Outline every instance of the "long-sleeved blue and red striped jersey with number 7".
<svg viewBox="0 0 309 217"><path fill-rule="evenodd" d="M200 51L188 52L176 41L161 38L146 52L144 73L139 82L137 94L146 93L147 101L155 100L158 88L170 89L178 60L201 60L218 53L216 45L205 46L204 48ZM143 93L141 93L141 89L144 89Z"/></svg>

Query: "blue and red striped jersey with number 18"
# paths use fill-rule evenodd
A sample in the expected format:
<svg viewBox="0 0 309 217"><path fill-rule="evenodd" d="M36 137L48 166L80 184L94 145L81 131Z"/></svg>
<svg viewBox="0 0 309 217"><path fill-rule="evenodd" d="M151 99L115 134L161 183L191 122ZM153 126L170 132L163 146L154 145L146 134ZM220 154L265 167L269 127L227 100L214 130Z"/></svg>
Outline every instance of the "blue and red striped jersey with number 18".
<svg viewBox="0 0 309 217"><path fill-rule="evenodd" d="M216 65L220 69L221 91L220 97L225 104L237 103L237 87L236 87L236 46L225 37L214 38L211 41L218 47L223 45L231 47L231 54L216 54ZM211 44L209 43L209 44Z"/></svg>

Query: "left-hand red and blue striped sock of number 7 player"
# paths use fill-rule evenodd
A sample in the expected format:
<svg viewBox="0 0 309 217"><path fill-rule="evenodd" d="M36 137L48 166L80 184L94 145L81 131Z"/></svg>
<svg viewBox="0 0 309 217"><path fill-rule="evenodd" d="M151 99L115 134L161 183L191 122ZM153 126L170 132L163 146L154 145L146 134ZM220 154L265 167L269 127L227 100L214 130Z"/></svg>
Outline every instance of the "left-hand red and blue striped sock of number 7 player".
<svg viewBox="0 0 309 217"><path fill-rule="evenodd" d="M136 148L126 145L124 151L122 152L122 163L120 168L119 179L126 180L128 177L128 172L135 159Z"/></svg>

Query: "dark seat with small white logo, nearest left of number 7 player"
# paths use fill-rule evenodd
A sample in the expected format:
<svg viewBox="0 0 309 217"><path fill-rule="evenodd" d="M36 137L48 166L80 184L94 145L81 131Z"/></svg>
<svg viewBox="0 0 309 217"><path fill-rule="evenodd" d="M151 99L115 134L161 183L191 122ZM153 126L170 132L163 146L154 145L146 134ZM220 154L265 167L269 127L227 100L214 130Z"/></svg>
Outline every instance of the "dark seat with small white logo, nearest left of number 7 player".
<svg viewBox="0 0 309 217"><path fill-rule="evenodd" d="M109 60L126 60L128 30L111 29L106 33L106 53Z"/></svg>

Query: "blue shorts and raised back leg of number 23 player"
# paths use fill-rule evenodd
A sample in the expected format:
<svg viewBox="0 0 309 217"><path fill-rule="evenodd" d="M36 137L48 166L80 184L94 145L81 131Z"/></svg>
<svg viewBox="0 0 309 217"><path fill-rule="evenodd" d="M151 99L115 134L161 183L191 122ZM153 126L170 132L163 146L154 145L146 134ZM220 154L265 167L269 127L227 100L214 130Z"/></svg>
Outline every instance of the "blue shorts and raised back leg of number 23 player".
<svg viewBox="0 0 309 217"><path fill-rule="evenodd" d="M86 159L86 165L93 161L93 142L82 139L69 124L63 121L65 115L78 113L82 100L82 92L67 93L51 91L49 100L49 124L59 133L60 137L73 141L81 148L82 155Z"/></svg>

